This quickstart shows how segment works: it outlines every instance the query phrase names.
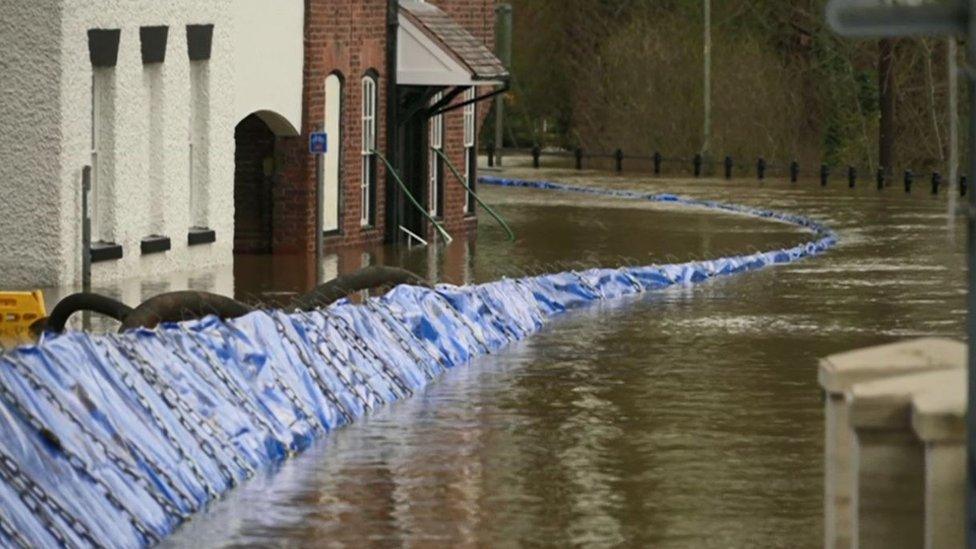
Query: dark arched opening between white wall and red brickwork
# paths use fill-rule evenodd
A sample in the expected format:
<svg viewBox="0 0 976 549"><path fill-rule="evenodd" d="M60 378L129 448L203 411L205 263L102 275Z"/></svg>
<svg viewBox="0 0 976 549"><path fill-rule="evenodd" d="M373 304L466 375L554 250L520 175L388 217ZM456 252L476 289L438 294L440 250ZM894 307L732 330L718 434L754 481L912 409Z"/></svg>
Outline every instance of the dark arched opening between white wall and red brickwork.
<svg viewBox="0 0 976 549"><path fill-rule="evenodd" d="M234 142L234 253L271 253L275 134L252 114Z"/></svg>

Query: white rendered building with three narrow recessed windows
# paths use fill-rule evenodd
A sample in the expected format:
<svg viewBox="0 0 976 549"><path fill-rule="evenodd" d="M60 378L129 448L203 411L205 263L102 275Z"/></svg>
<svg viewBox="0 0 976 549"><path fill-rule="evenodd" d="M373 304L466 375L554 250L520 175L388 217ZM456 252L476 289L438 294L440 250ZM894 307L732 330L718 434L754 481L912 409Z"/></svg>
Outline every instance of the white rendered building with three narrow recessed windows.
<svg viewBox="0 0 976 549"><path fill-rule="evenodd" d="M230 264L234 129L302 125L303 0L3 0L0 288Z"/></svg>

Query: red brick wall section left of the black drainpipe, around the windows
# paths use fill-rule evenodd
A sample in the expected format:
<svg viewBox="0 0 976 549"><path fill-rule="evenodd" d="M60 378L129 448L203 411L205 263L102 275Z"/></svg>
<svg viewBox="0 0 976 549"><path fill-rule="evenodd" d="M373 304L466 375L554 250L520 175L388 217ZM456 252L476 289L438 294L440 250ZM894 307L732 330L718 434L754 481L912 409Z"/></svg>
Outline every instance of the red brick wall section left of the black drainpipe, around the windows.
<svg viewBox="0 0 976 549"><path fill-rule="evenodd" d="M327 239L329 246L380 242L383 239L384 186L378 163L374 207L376 224L362 228L359 182L362 77L377 79L376 144L386 145L386 0L306 0L305 87L302 135L279 144L279 181L275 193L274 250L277 253L314 253L318 199L316 158L308 154L308 134L324 124L325 79L336 73L343 80L342 136L329 147L341 147L341 235Z"/></svg>

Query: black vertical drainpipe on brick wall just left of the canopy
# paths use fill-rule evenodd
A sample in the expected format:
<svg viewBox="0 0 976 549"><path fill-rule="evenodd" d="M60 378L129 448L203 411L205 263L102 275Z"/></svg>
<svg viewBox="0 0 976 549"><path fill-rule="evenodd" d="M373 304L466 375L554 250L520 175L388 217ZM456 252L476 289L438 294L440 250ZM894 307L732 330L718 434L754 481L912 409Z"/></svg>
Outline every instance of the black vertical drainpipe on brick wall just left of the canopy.
<svg viewBox="0 0 976 549"><path fill-rule="evenodd" d="M400 157L397 154L397 118L399 101L397 98L397 32L400 27L400 2L387 0L386 2L386 156L394 168L400 169ZM403 219L403 199L400 189L393 177L387 174L384 187L386 188L386 241L396 243L399 231L397 227Z"/></svg>

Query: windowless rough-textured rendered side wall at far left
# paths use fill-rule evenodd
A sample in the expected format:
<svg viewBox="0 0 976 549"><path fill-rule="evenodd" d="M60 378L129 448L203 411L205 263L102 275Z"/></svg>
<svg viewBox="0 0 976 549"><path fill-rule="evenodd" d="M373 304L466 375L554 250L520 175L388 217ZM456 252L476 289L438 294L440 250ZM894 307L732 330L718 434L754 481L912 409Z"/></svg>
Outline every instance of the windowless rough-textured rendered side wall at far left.
<svg viewBox="0 0 976 549"><path fill-rule="evenodd" d="M60 276L60 9L0 6L0 290Z"/></svg>

